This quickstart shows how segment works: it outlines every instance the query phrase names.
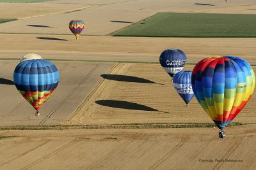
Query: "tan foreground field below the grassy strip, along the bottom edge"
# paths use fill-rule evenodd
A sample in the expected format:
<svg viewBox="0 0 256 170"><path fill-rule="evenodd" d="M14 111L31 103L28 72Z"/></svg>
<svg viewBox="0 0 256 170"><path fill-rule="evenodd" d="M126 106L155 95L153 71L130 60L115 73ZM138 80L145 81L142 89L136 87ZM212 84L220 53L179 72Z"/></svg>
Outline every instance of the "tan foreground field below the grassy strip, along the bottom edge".
<svg viewBox="0 0 256 170"><path fill-rule="evenodd" d="M15 137L0 139L0 169L255 169L255 126L227 127L226 134L219 139L212 128L1 131Z"/></svg>

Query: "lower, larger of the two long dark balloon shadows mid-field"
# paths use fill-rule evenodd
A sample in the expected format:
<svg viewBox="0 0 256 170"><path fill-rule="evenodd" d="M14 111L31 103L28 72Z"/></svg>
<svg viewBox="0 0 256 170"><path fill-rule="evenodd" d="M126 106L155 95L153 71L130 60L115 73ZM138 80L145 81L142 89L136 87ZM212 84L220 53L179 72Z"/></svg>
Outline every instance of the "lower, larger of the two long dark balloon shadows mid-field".
<svg viewBox="0 0 256 170"><path fill-rule="evenodd" d="M142 104L131 103L127 101L99 100L99 101L95 101L95 103L101 106L108 106L110 108L119 108L119 109L125 109L125 110L159 111ZM168 113L164 111L159 111L159 112Z"/></svg>

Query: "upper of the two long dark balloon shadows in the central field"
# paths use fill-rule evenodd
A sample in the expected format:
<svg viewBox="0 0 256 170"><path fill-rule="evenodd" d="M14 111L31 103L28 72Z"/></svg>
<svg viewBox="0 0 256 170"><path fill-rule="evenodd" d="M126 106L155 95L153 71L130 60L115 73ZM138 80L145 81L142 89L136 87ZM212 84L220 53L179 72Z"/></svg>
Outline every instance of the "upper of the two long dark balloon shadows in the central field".
<svg viewBox="0 0 256 170"><path fill-rule="evenodd" d="M147 80L145 78L139 78L135 76L125 76L125 75L119 75L119 74L101 74L102 78L108 79L108 80L115 80L115 81L126 81L126 82L134 82L134 83L156 83L151 80ZM163 84L160 84L163 85Z"/></svg>

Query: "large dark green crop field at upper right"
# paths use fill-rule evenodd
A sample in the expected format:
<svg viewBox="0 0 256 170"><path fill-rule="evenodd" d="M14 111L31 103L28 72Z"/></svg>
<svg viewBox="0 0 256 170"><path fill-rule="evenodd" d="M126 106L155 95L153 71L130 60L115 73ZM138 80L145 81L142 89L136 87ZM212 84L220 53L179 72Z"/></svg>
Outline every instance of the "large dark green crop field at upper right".
<svg viewBox="0 0 256 170"><path fill-rule="evenodd" d="M256 15L158 13L112 36L256 37Z"/></svg>

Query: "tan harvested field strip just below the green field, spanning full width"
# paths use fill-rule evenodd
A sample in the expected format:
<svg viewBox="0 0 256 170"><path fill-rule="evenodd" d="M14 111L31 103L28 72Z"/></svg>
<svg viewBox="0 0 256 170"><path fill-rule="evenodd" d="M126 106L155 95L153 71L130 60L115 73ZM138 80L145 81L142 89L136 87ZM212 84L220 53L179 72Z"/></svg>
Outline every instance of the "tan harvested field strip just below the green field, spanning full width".
<svg viewBox="0 0 256 170"><path fill-rule="evenodd" d="M255 65L255 44L256 38L81 36L76 40L71 32L70 35L0 34L0 59L19 59L26 53L38 53L44 54L44 59L159 62L163 50L178 48L193 64L214 55L236 55Z"/></svg>

